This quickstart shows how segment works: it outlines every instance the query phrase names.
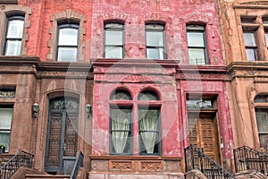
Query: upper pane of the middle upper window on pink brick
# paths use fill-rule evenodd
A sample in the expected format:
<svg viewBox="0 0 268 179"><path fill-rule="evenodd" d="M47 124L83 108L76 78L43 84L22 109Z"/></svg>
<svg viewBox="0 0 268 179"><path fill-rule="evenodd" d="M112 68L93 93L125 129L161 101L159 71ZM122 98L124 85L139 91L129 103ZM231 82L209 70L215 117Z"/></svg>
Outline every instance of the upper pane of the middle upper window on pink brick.
<svg viewBox="0 0 268 179"><path fill-rule="evenodd" d="M163 47L163 32L147 31L147 46Z"/></svg>

